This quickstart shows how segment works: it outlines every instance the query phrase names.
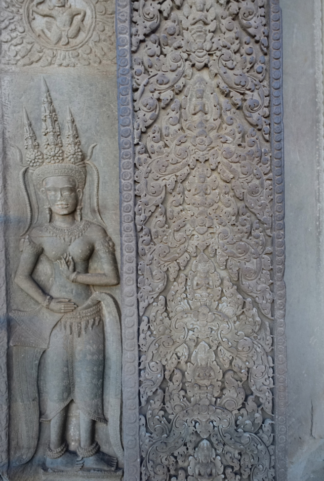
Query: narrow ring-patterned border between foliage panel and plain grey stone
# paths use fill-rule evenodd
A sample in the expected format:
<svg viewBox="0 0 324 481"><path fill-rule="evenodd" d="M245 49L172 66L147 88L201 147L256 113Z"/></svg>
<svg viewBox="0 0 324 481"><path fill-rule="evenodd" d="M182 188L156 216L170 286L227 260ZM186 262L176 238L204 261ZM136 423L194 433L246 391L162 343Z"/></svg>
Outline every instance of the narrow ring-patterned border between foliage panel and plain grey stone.
<svg viewBox="0 0 324 481"><path fill-rule="evenodd" d="M284 126L282 124L282 21L270 1L271 150L273 172L274 438L276 481L287 481L287 351L285 335Z"/></svg>

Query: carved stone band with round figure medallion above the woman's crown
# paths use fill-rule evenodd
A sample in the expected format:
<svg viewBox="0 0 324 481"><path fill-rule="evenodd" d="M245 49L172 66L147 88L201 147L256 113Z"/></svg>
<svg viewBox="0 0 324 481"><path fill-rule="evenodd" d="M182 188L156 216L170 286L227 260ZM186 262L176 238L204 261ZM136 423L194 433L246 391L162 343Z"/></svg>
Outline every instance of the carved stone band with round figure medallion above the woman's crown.
<svg viewBox="0 0 324 481"><path fill-rule="evenodd" d="M73 67L115 60L112 0L4 2L2 63Z"/></svg>

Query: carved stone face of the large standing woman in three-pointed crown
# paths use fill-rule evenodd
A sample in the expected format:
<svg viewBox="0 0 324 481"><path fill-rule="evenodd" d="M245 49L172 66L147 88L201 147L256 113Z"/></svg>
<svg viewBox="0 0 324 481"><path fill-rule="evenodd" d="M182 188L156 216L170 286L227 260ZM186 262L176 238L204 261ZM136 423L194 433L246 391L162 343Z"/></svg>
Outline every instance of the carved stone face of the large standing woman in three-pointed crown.
<svg viewBox="0 0 324 481"><path fill-rule="evenodd" d="M42 195L48 199L54 214L64 216L75 212L82 199L82 190L77 188L74 177L69 175L47 177L43 185Z"/></svg>

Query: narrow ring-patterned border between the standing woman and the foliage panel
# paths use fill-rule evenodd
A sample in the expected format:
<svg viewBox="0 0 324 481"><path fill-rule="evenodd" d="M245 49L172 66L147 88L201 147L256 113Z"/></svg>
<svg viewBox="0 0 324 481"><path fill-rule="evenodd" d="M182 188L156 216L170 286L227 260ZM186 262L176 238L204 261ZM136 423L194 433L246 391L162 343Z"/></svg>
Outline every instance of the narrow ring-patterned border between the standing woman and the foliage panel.
<svg viewBox="0 0 324 481"><path fill-rule="evenodd" d="M116 0L124 481L140 479L137 245L135 231L131 2Z"/></svg>

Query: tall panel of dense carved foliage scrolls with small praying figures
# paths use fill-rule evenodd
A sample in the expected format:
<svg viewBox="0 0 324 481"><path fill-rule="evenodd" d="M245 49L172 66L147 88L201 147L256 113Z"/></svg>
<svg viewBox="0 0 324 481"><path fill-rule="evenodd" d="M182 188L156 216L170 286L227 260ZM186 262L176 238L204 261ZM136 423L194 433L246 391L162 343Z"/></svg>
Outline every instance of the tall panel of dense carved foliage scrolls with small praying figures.
<svg viewBox="0 0 324 481"><path fill-rule="evenodd" d="M271 481L269 4L133 6L142 479Z"/></svg>

